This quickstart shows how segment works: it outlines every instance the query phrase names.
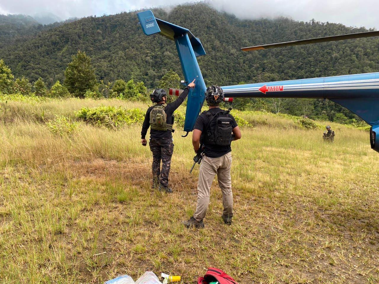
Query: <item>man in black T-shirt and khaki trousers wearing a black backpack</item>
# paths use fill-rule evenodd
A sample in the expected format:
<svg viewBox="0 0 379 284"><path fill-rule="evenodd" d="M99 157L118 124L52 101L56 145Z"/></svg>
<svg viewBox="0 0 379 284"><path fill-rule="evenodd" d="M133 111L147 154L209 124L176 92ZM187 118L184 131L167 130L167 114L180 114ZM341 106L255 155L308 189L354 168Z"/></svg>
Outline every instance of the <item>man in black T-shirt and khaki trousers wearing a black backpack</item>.
<svg viewBox="0 0 379 284"><path fill-rule="evenodd" d="M233 193L230 177L232 149L230 144L233 140L241 139L241 131L229 110L224 111L219 108L219 103L223 99L224 92L219 86L208 87L205 100L209 110L197 117L194 126L192 144L196 153L204 150L204 157L199 169L196 211L188 221L182 222L187 228L204 228L203 219L207 212L210 188L216 174L224 206L222 220L226 225L232 224ZM202 149L200 149L200 143Z"/></svg>

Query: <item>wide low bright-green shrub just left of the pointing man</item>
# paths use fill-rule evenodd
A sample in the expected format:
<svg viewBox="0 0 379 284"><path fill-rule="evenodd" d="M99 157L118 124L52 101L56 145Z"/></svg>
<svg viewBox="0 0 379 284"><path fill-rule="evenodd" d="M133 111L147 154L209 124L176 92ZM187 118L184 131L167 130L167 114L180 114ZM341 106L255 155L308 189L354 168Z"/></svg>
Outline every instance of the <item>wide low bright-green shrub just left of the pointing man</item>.
<svg viewBox="0 0 379 284"><path fill-rule="evenodd" d="M142 123L145 113L138 108L125 109L114 106L99 106L97 108L81 108L76 117L92 125L117 129L124 125Z"/></svg>

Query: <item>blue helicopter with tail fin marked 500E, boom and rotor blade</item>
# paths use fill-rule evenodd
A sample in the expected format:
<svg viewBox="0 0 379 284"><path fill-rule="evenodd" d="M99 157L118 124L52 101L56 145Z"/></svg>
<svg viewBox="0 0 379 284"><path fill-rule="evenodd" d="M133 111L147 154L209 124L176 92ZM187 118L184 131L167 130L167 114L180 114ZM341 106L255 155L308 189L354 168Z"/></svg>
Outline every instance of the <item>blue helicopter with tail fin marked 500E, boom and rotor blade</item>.
<svg viewBox="0 0 379 284"><path fill-rule="evenodd" d="M196 79L196 86L188 94L185 123L183 130L193 131L197 116L205 100L204 78L201 74L197 57L205 55L200 39L191 31L154 17L151 10L137 13L144 34L161 34L175 42L185 80L182 84ZM280 42L275 44L243 47L242 51L264 50L268 48L293 45L313 44L318 42L339 41L361 37L379 36L379 31L342 34L337 36L318 37L299 41ZM227 101L238 97L266 98L322 98L334 101L357 114L370 127L371 148L379 152L379 72L355 75L319 77L287 81L263 82L233 86L221 86Z"/></svg>

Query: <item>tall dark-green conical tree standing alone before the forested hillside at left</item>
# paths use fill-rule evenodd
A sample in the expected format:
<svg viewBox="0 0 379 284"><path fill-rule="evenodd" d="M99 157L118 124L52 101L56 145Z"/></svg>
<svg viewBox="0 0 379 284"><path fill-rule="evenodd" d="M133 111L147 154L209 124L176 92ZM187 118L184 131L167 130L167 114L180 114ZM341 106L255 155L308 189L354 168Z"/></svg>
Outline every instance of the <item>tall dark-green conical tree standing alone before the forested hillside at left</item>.
<svg viewBox="0 0 379 284"><path fill-rule="evenodd" d="M72 56L72 62L68 64L64 76L64 86L76 97L84 98L86 91L96 92L98 89L91 58L80 50Z"/></svg>

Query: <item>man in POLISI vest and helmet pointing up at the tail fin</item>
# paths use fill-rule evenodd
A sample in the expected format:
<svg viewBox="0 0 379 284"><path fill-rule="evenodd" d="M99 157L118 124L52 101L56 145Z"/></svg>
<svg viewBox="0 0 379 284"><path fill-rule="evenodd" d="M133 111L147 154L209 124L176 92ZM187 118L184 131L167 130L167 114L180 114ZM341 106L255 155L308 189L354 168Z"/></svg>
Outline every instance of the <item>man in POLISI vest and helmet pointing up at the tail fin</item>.
<svg viewBox="0 0 379 284"><path fill-rule="evenodd" d="M189 83L179 98L167 104L167 93L164 89L155 89L150 98L153 106L147 109L145 120L142 125L141 143L146 146L146 133L150 126L150 150L153 152L153 188L171 193L168 186L168 175L170 173L171 156L174 150L172 143L172 125L174 124L174 111L179 108L188 95L189 88L195 86L194 81ZM162 160L162 170L160 169Z"/></svg>

